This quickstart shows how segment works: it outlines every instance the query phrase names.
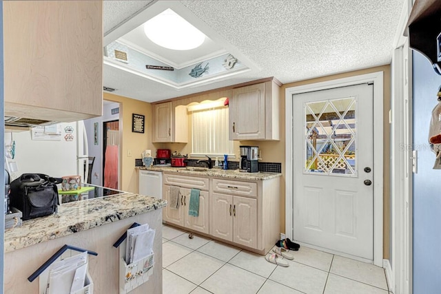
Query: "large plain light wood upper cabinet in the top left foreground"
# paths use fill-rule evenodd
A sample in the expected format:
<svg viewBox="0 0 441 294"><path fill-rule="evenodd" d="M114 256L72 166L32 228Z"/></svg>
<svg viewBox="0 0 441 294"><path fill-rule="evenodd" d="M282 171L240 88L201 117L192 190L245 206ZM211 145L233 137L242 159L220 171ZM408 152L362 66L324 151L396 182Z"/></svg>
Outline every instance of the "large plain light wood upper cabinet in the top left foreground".
<svg viewBox="0 0 441 294"><path fill-rule="evenodd" d="M4 1L5 115L102 115L103 1Z"/></svg>

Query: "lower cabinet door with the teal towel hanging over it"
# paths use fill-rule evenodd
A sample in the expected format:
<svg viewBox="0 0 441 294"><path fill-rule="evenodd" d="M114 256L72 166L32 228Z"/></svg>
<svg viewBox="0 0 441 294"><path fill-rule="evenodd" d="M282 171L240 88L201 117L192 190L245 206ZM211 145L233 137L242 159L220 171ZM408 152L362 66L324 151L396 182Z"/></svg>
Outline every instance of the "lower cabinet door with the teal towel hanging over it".
<svg viewBox="0 0 441 294"><path fill-rule="evenodd" d="M185 213L185 227L201 233L209 233L209 196L208 191L199 192L199 211L198 216L190 216L190 193L191 189L181 188L181 193L184 196L184 213Z"/></svg>

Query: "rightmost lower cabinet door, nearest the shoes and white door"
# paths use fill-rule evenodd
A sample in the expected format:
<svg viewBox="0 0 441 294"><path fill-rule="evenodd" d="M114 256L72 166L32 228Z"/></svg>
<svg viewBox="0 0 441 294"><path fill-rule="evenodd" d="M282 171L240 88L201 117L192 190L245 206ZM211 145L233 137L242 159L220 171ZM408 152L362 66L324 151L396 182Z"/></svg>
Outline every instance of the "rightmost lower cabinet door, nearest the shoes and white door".
<svg viewBox="0 0 441 294"><path fill-rule="evenodd" d="M252 248L257 247L257 200L234 197L233 242Z"/></svg>

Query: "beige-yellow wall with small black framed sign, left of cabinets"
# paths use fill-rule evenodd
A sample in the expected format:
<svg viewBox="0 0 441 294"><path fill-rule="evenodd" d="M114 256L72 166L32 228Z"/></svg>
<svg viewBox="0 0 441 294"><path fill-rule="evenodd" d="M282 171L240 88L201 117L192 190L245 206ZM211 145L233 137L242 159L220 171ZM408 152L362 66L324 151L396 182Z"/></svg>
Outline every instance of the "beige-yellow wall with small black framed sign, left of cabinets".
<svg viewBox="0 0 441 294"><path fill-rule="evenodd" d="M138 192L138 172L134 169L135 158L141 158L145 149L154 149L152 145L152 105L143 101L126 98L114 94L104 93L104 100L119 102L119 126L122 129L122 142L119 151L120 158L120 189L129 192ZM145 132L132 132L132 114L145 116ZM132 156L128 156L131 151Z"/></svg>

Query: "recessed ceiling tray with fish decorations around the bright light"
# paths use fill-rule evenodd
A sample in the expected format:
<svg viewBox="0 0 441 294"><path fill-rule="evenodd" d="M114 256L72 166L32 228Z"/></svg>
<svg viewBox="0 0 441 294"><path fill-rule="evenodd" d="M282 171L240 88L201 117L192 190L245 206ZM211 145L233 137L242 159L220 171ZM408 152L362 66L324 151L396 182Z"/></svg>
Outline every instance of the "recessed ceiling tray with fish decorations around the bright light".
<svg viewBox="0 0 441 294"><path fill-rule="evenodd" d="M143 23L171 8L201 30L207 38L201 48L176 51L162 48L150 41L143 32ZM122 34L123 28L133 28ZM118 33L119 32L119 33ZM112 38L110 37L112 36ZM116 38L116 41L112 41ZM126 54L126 59L117 58L116 51ZM214 31L207 28L178 1L158 1L105 36L104 63L119 70L163 83L174 89L194 87L212 83L231 76L249 72L256 68L236 48L228 45Z"/></svg>

